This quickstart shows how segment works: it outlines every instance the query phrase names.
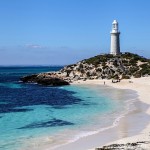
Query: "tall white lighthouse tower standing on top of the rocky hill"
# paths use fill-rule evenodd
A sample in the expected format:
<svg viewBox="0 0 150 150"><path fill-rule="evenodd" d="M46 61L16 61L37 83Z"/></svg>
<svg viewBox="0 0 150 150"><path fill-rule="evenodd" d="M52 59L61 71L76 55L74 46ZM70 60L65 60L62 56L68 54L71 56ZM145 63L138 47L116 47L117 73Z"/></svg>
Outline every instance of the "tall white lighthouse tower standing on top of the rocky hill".
<svg viewBox="0 0 150 150"><path fill-rule="evenodd" d="M111 34L111 46L110 46L110 54L118 55L120 54L120 32L118 30L118 22L114 20L112 23L112 31Z"/></svg>

